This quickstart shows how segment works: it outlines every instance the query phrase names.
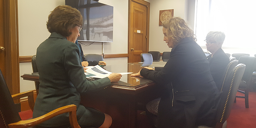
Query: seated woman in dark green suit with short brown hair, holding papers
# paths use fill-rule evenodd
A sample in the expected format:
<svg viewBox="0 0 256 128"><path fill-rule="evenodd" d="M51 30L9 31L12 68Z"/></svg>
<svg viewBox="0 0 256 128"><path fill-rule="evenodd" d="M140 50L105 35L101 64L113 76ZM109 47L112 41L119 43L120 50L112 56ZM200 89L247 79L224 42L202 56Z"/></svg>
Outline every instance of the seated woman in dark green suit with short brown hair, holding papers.
<svg viewBox="0 0 256 128"><path fill-rule="evenodd" d="M40 89L35 102L33 118L56 108L75 104L77 119L82 128L109 128L112 118L93 108L80 105L80 93L100 90L122 77L112 73L107 78L87 81L81 66L79 49L75 44L82 30L82 15L70 6L56 7L48 17L50 37L37 48L37 68ZM69 114L61 114L39 127L69 127Z"/></svg>

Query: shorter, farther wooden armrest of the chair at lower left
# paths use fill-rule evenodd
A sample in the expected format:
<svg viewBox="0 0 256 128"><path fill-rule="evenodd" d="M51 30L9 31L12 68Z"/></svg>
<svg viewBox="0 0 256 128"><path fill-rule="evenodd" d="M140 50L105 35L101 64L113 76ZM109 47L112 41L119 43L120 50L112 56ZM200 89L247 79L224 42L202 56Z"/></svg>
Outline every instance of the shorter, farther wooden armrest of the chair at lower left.
<svg viewBox="0 0 256 128"><path fill-rule="evenodd" d="M24 98L27 96L27 101L29 102L29 107L32 111L34 111L34 106L35 106L35 102L34 102L34 92L33 91L26 91L23 93L18 93L18 94L13 94L12 95L12 99L20 99L20 98Z"/></svg>

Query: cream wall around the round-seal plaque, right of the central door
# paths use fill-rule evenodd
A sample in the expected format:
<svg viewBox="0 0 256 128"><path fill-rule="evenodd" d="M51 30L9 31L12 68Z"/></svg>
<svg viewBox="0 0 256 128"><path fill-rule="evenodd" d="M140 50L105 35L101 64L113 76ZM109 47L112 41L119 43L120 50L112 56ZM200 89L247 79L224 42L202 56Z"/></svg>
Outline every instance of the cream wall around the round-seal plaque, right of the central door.
<svg viewBox="0 0 256 128"><path fill-rule="evenodd" d="M163 41L162 26L159 26L159 11L174 9L174 17L181 17L194 28L195 0L150 0L149 51L171 51ZM191 12L192 11L192 12Z"/></svg>

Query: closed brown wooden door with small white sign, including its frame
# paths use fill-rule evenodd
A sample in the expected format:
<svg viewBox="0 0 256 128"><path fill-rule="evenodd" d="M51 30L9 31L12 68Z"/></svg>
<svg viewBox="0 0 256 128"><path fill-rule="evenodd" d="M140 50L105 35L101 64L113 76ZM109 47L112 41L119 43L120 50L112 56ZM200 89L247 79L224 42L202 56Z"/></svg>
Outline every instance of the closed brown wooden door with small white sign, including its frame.
<svg viewBox="0 0 256 128"><path fill-rule="evenodd" d="M129 1L128 62L140 62L140 53L148 52L149 5L144 0Z"/></svg>

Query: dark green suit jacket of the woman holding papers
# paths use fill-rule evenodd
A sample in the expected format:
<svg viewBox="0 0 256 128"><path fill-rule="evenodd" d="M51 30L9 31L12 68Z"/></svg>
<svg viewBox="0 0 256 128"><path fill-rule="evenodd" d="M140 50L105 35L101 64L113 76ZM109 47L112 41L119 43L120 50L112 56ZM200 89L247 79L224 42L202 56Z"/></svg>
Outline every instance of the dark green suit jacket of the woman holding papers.
<svg viewBox="0 0 256 128"><path fill-rule="evenodd" d="M103 89L111 82L108 78L87 81L79 58L77 45L55 32L38 46L36 63L40 75L40 89L35 101L33 118L56 108L75 104L78 121L86 120L90 113L84 106L79 105L80 93ZM69 113L53 117L40 125L65 124L69 124Z"/></svg>

